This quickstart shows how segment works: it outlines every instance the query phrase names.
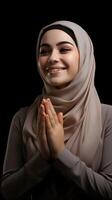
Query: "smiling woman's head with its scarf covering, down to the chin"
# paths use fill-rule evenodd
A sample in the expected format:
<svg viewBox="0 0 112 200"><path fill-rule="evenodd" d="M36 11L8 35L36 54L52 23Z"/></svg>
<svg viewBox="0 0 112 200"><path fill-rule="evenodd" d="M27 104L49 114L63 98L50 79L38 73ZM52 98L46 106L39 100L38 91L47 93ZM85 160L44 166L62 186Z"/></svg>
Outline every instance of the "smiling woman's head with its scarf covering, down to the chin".
<svg viewBox="0 0 112 200"><path fill-rule="evenodd" d="M83 84L94 59L92 42L79 25L57 21L40 31L36 59L39 73L48 87L65 88L76 79Z"/></svg>

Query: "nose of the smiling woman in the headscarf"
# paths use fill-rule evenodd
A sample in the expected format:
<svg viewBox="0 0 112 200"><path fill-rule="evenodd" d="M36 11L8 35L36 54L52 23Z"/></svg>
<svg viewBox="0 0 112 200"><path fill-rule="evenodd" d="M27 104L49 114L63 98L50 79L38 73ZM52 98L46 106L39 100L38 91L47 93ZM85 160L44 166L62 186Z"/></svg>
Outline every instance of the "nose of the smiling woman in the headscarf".
<svg viewBox="0 0 112 200"><path fill-rule="evenodd" d="M49 60L50 63L56 63L59 61L59 53L56 49L53 49L51 54L49 55Z"/></svg>

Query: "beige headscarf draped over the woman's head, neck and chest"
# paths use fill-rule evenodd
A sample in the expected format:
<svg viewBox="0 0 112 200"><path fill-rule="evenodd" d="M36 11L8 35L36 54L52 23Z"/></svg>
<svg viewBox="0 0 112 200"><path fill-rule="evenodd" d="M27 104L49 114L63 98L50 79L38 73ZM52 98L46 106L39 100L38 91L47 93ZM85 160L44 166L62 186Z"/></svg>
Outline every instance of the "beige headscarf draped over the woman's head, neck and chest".
<svg viewBox="0 0 112 200"><path fill-rule="evenodd" d="M53 24L63 25L74 32L80 53L80 70L74 80L62 89L52 87L42 77L44 82L42 95L29 108L23 127L27 156L30 159L37 151L38 108L41 99L49 97L56 112L63 112L66 148L79 156L88 166L94 167L93 160L98 159L98 148L102 143L102 120L101 103L94 86L93 45L86 31L79 25L69 21L57 21L48 26ZM37 55L43 30L44 28L40 31L37 42Z"/></svg>

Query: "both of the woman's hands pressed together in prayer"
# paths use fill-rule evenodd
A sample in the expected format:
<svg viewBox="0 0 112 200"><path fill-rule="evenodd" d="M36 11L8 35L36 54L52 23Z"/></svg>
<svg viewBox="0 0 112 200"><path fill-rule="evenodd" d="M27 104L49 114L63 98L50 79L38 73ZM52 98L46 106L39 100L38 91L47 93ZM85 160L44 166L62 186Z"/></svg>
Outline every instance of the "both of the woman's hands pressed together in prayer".
<svg viewBox="0 0 112 200"><path fill-rule="evenodd" d="M63 114L55 112L50 99L43 99L40 107L40 149L44 149L44 157L50 152L50 157L56 158L63 151L64 145L64 129ZM44 131L42 131L44 130ZM46 157L48 158L48 157Z"/></svg>

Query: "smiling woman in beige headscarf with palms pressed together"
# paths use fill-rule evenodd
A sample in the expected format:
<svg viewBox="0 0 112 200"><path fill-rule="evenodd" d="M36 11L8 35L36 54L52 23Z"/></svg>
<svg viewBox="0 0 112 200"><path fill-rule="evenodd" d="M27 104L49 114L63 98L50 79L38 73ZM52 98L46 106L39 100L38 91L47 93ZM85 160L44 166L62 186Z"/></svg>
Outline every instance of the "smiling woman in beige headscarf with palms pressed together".
<svg viewBox="0 0 112 200"><path fill-rule="evenodd" d="M94 86L90 37L73 22L54 22L40 31L36 59L44 87L12 120L3 195L112 199L112 106Z"/></svg>

